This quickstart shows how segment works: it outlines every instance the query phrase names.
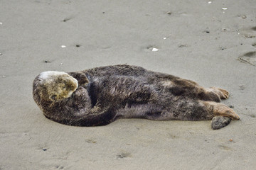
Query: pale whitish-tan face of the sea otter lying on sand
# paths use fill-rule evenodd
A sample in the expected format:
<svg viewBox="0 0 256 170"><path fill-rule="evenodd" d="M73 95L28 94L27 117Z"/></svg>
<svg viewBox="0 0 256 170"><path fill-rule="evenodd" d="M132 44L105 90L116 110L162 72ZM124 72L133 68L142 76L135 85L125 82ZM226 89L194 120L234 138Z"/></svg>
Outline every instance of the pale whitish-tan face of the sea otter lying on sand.
<svg viewBox="0 0 256 170"><path fill-rule="evenodd" d="M65 72L42 72L38 79L40 96L46 101L60 101L69 98L78 89L78 80Z"/></svg>

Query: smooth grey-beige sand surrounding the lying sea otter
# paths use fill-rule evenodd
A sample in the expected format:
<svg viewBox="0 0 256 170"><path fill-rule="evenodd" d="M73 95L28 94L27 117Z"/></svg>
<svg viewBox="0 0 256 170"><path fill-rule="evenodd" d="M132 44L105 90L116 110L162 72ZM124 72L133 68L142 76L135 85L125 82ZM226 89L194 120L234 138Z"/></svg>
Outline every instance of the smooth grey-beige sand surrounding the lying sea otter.
<svg viewBox="0 0 256 170"><path fill-rule="evenodd" d="M0 169L255 169L255 0L0 4ZM71 127L34 103L40 72L109 64L220 86L240 120Z"/></svg>

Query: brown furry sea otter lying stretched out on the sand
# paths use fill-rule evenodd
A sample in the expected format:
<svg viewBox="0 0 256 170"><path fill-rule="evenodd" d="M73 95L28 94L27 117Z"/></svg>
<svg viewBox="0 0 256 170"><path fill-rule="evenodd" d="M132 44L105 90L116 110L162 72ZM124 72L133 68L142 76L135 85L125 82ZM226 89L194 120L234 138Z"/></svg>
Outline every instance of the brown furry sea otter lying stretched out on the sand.
<svg viewBox="0 0 256 170"><path fill-rule="evenodd" d="M46 118L74 126L107 125L119 118L212 120L213 130L239 116L220 99L228 91L126 64L81 72L42 72L33 98Z"/></svg>

